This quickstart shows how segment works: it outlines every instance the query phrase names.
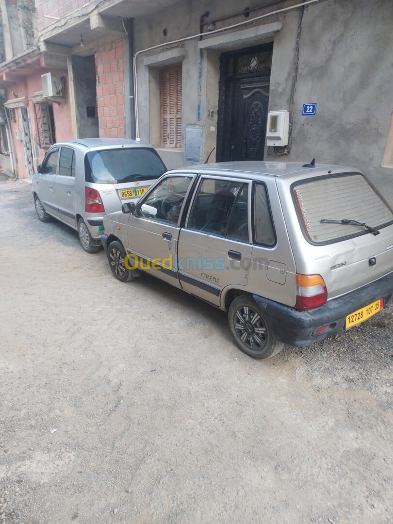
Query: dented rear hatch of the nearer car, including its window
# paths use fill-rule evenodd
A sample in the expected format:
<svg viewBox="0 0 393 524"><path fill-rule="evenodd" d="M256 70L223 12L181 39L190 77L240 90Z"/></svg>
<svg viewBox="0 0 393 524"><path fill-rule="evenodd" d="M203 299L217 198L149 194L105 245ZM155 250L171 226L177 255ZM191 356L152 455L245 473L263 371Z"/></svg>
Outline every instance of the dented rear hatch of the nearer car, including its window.
<svg viewBox="0 0 393 524"><path fill-rule="evenodd" d="M306 179L291 190L309 244L297 271L322 275L329 299L393 271L393 211L361 173Z"/></svg>

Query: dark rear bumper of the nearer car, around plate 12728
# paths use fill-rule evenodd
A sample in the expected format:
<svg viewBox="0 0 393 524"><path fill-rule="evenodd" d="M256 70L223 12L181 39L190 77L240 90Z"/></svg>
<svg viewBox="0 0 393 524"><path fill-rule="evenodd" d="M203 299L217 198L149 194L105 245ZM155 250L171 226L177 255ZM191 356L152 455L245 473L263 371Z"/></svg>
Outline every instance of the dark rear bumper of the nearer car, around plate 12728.
<svg viewBox="0 0 393 524"><path fill-rule="evenodd" d="M347 315L378 299L384 299L385 308L392 294L393 272L309 311L298 311L258 295L253 295L253 297L260 309L266 314L274 338L278 342L302 347L345 330ZM327 324L329 324L329 328L326 331L313 335L316 328Z"/></svg>

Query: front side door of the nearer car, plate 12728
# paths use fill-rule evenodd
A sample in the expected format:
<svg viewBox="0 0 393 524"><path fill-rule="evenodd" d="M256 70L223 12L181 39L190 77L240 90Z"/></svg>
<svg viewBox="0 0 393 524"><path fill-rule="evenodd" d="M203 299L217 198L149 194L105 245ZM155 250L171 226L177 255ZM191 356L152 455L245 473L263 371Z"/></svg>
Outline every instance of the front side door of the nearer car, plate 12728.
<svg viewBox="0 0 393 524"><path fill-rule="evenodd" d="M178 288L179 224L193 178L192 174L169 174L161 179L139 201L127 227L127 250L137 257L128 258L129 267L152 271Z"/></svg>

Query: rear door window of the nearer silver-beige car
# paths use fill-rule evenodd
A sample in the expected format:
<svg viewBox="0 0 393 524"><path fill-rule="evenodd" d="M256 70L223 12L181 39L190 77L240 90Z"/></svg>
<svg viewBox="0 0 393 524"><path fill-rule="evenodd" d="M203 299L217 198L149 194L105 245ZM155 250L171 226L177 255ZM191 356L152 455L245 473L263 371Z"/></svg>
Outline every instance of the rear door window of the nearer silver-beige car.
<svg viewBox="0 0 393 524"><path fill-rule="evenodd" d="M188 227L248 242L248 183L204 179L195 195Z"/></svg>

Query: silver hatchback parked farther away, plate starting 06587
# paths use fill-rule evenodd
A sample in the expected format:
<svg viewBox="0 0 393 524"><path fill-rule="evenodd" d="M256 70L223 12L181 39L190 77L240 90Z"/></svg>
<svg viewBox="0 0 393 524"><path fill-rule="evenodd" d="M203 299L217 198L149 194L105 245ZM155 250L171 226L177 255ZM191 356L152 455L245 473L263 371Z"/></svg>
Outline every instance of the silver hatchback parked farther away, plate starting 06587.
<svg viewBox="0 0 393 524"><path fill-rule="evenodd" d="M86 138L54 144L32 178L38 218L50 216L78 230L88 253L100 249L105 213L137 201L166 171L149 144Z"/></svg>

